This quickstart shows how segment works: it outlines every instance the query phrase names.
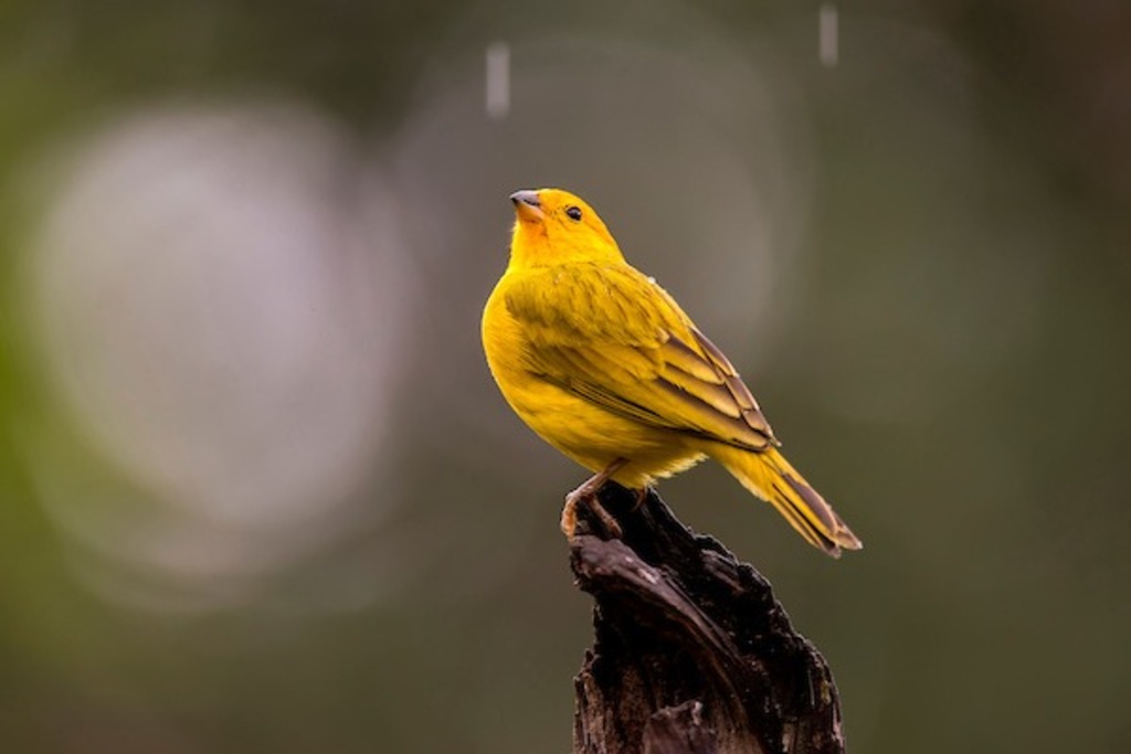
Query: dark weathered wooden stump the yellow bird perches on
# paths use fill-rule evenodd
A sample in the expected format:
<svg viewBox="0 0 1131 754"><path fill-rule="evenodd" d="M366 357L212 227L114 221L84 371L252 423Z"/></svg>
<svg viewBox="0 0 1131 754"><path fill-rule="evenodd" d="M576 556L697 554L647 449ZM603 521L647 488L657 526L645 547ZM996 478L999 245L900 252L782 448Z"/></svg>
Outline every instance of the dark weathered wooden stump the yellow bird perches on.
<svg viewBox="0 0 1131 754"><path fill-rule="evenodd" d="M579 506L571 562L596 601L596 640L575 679L573 751L844 752L832 675L769 582L655 493L636 510L613 484L599 499L623 536L595 536Z"/></svg>

